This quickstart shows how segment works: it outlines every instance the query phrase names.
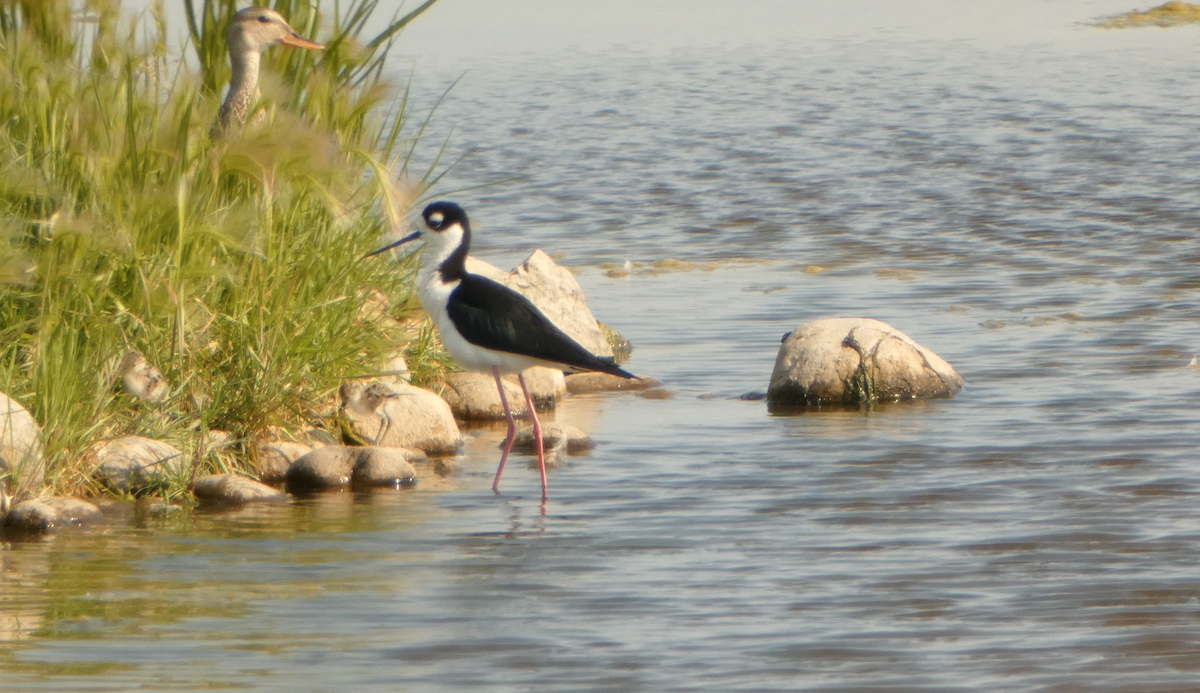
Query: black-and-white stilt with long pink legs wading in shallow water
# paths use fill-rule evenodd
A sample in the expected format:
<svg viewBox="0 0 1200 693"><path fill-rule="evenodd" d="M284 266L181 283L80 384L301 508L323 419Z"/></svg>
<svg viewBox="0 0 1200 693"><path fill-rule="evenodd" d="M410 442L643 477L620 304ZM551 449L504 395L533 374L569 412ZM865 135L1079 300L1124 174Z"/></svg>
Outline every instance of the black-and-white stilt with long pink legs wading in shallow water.
<svg viewBox="0 0 1200 693"><path fill-rule="evenodd" d="M533 398L521 372L533 366L548 366L563 370L599 370L622 378L637 378L620 369L612 360L588 351L559 330L528 299L512 289L467 271L470 247L470 224L467 212L454 203L433 203L421 212L428 231L416 231L371 253L377 255L416 239L425 239L421 269L416 275L416 295L425 312L442 333L442 343L460 366L468 370L491 369L500 393L509 432L504 453L496 469L492 490L499 493L500 474L512 450L516 422L504 396L502 373L516 373L524 394L538 450L541 470L541 498L547 498L546 452L542 447L541 423L534 410ZM370 255L368 255L370 257Z"/></svg>

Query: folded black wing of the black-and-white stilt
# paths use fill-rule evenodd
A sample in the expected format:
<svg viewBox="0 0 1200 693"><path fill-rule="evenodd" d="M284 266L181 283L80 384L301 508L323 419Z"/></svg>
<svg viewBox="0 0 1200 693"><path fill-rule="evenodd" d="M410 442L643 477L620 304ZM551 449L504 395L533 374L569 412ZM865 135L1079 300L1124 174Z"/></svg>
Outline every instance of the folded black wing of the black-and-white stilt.
<svg viewBox="0 0 1200 693"><path fill-rule="evenodd" d="M529 299L499 282L463 273L450 293L446 313L464 339L496 351L562 363L572 370L599 370L636 378L611 358L601 358L559 330Z"/></svg>

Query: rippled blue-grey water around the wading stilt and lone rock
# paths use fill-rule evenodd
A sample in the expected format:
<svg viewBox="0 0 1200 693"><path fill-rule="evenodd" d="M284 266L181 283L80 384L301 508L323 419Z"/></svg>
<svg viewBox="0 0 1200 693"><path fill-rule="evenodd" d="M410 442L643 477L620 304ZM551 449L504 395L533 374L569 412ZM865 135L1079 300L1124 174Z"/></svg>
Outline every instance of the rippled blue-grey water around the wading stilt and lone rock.
<svg viewBox="0 0 1200 693"><path fill-rule="evenodd" d="M1195 689L1195 32L1057 38L473 67L442 194L523 176L449 194L478 254L562 253L673 397L566 400L545 516L485 428L413 490L0 544L0 689ZM665 258L718 267L598 266ZM967 388L732 399L835 315Z"/></svg>

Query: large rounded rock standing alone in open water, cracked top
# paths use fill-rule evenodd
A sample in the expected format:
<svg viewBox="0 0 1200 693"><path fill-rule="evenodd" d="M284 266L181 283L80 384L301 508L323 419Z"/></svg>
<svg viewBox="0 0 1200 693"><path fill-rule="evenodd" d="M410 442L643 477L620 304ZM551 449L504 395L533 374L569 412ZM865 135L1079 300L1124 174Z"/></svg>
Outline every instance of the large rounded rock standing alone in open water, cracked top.
<svg viewBox="0 0 1200 693"><path fill-rule="evenodd" d="M832 318L784 337L767 400L786 406L953 397L964 384L949 363L895 327Z"/></svg>

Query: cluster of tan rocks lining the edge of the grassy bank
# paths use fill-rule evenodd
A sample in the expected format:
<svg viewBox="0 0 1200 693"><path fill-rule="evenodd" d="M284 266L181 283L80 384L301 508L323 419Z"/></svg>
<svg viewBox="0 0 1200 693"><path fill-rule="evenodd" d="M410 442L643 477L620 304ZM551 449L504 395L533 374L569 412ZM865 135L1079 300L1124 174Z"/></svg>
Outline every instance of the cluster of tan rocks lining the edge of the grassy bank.
<svg viewBox="0 0 1200 693"><path fill-rule="evenodd" d="M468 259L475 272L492 277L527 295L566 333L601 356L611 356L608 339L592 315L575 277L535 252L512 272ZM376 302L382 299L374 299ZM365 309L378 309L367 306ZM463 446L458 421L487 421L504 417L496 384L490 374L451 373L440 392L415 387L403 380L407 367L395 355L385 364L390 376L374 381L348 381L340 390L341 405L334 417L336 435L325 430L276 432L260 441L244 442L257 468L258 478L216 474L191 480L192 494L204 505L281 502L288 494L342 488L404 488L416 482L414 463L439 464ZM131 350L116 369L125 391L148 404L163 400L170 385L146 357ZM628 381L602 374L565 376L551 368L522 373L534 405L553 409L569 393L606 390L647 388L653 379ZM514 414L527 416L517 378L504 379ZM41 432L19 403L0 393L0 529L8 532L44 532L66 525L100 522L100 510L86 501L62 498L34 498L44 477ZM222 432L211 432L208 448L229 444ZM587 450L592 441L583 432L562 426L545 430L552 459L563 453ZM348 444L348 445L347 445ZM521 432L518 450L533 446L532 429ZM124 436L97 442L83 460L92 477L116 493L145 494L186 480L193 474L193 458L179 448L142 436ZM282 487L281 490L278 487ZM13 504L12 501L18 502Z"/></svg>

